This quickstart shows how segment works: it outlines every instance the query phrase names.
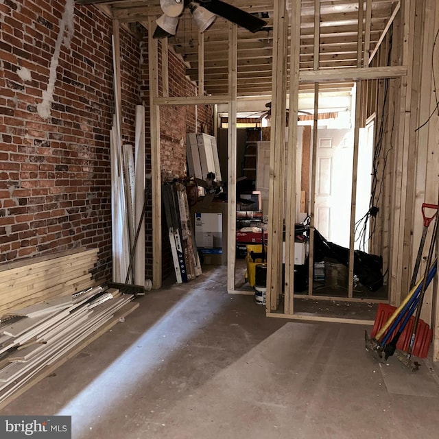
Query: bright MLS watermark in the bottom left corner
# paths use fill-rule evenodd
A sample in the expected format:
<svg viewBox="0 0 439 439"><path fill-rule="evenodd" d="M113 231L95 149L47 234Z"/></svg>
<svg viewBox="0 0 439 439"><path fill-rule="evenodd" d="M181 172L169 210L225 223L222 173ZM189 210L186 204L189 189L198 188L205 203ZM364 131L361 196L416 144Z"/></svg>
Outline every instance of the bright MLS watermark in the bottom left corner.
<svg viewBox="0 0 439 439"><path fill-rule="evenodd" d="M0 439L71 439L71 416L0 416Z"/></svg>

